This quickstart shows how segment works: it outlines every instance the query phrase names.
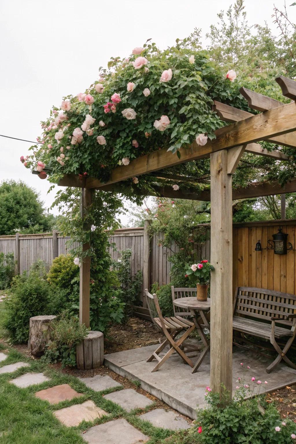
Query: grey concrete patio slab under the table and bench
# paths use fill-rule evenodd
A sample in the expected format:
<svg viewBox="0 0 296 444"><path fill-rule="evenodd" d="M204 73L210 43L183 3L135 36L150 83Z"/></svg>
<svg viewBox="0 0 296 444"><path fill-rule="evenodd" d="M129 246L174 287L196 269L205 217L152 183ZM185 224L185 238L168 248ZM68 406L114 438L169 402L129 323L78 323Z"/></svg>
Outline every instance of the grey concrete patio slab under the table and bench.
<svg viewBox="0 0 296 444"><path fill-rule="evenodd" d="M198 344L197 341L196 343ZM210 354L206 355L197 373L194 374L191 373L189 365L184 364L177 355L170 357L157 372L151 373L155 361L146 362L146 359L155 351L155 348L156 345L149 345L127 352L105 355L104 365L123 377L140 381L142 389L146 392L164 401L178 412L196 419L196 408L205 406L205 387L210 384ZM191 359L195 363L198 356ZM280 363L272 373L268 374L265 369L271 362L270 357L233 347L234 390L239 385L237 378L243 377L241 362L244 363L245 368L248 365L250 367L245 374L246 384L251 383L252 377L256 380L266 380L268 384L263 390L266 389L269 392L286 385L296 384L296 370ZM256 386L255 390L258 389L259 387Z"/></svg>

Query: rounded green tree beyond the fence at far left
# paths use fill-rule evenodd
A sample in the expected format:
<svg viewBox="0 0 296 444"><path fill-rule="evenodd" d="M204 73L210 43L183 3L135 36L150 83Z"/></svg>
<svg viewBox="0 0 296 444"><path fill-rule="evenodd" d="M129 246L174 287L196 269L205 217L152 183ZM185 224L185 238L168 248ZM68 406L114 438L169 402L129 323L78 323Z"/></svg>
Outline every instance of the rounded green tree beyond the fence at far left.
<svg viewBox="0 0 296 444"><path fill-rule="evenodd" d="M39 193L24 182L0 183L0 235L51 231L55 216L45 214Z"/></svg>

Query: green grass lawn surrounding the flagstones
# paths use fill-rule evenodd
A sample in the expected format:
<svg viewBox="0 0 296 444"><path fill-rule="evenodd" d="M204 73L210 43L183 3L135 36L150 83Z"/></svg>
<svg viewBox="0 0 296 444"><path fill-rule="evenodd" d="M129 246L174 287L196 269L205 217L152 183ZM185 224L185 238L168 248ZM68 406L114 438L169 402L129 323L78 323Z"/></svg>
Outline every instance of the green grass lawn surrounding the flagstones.
<svg viewBox="0 0 296 444"><path fill-rule="evenodd" d="M0 306L2 304L0 303ZM1 313L0 313L1 316ZM6 345L0 344L0 351ZM0 443L1 444L78 444L84 443L81 432L87 428L102 424L115 418L125 418L130 424L138 428L144 434L150 436L147 444L196 444L198 436L193 436L193 429L184 432L172 432L153 427L149 422L142 421L137 409L130 413L109 400L105 400L102 394L118 390L118 388L95 392L89 389L78 378L52 369L49 365L33 361L22 353L10 347L8 357L0 363L0 367L18 361L28 362L30 367L16 370L14 373L0 375ZM7 351L5 351L7 353ZM43 372L51 380L39 385L20 389L8 381L27 372ZM37 398L34 393L41 389L47 389L54 385L69 384L73 389L84 396L76 400L63 401L51 405L45 400ZM119 388L120 389L120 388ZM66 427L53 415L53 411L79 404L85 400L92 400L97 406L108 413L93 422L83 422L78 427ZM152 406L153 407L153 406ZM147 408L147 411L151 406Z"/></svg>

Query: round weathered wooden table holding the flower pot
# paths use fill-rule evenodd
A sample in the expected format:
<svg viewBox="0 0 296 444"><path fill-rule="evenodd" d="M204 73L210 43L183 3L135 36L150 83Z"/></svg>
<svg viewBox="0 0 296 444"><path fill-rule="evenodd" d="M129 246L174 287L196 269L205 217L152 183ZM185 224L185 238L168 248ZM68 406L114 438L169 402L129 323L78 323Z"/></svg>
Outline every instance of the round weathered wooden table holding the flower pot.
<svg viewBox="0 0 296 444"><path fill-rule="evenodd" d="M203 329L205 327L209 329L209 321L206 315L209 313L211 308L211 300L209 297L207 301L198 301L196 297L179 297L173 301L173 304L177 307L185 309L185 311L189 311L192 314L195 327L201 337L201 341L205 345L205 348L202 350L197 363L193 367L192 373L195 373L210 349L210 341L205 336Z"/></svg>

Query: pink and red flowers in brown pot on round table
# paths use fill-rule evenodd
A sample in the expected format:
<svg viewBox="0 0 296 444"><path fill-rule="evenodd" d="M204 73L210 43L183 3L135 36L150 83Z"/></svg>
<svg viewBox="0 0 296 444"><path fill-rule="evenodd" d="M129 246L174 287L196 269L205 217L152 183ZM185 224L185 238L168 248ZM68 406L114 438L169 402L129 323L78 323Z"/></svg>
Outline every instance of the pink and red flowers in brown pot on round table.
<svg viewBox="0 0 296 444"><path fill-rule="evenodd" d="M206 301L208 298L211 270L214 270L214 267L206 259L199 264L192 264L191 266L187 264L185 277L188 277L189 281L196 285L196 297L199 301Z"/></svg>

